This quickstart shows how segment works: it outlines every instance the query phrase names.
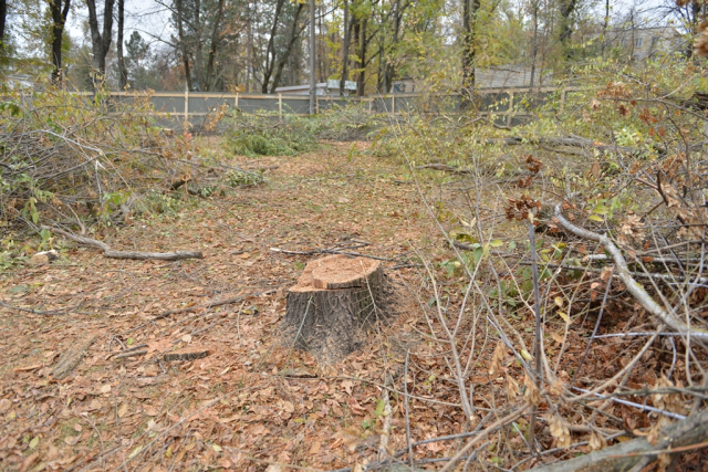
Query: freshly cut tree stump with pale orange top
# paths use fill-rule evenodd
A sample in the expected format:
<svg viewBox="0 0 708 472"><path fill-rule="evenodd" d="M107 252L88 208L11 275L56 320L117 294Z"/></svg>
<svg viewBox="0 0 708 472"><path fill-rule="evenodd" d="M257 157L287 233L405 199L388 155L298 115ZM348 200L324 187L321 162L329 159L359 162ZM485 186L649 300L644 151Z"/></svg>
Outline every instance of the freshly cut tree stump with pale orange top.
<svg viewBox="0 0 708 472"><path fill-rule="evenodd" d="M288 291L285 336L335 363L361 347L367 327L389 316L392 295L378 261L340 254L311 261Z"/></svg>

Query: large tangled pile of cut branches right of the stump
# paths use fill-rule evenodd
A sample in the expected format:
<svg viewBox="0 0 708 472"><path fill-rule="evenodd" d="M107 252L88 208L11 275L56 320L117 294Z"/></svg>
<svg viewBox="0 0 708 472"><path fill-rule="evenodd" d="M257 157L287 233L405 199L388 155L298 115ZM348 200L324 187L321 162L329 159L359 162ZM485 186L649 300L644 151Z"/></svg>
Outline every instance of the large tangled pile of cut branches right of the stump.
<svg viewBox="0 0 708 472"><path fill-rule="evenodd" d="M690 66L589 67L527 126L416 117L378 143L450 249L417 251L412 287L448 380L428 395L456 402L471 436L444 471L705 459L708 119ZM426 359L408 356L415 377Z"/></svg>

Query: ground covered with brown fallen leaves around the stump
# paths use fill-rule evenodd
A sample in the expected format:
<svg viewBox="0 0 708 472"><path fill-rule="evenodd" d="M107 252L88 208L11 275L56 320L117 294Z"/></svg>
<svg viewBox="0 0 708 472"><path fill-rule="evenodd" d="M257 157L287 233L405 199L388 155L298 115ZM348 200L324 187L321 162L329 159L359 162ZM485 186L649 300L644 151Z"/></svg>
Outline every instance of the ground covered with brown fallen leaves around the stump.
<svg viewBox="0 0 708 472"><path fill-rule="evenodd" d="M421 230L418 197L396 182L400 167L360 144L258 166L279 167L261 187L191 199L175 214L133 221L106 238L115 249L201 250L205 260L116 261L56 240L59 261L2 276L0 300L44 312L0 308L2 470L264 470L270 463L272 472L280 470L274 462L336 469L375 458L383 423L377 385L386 373L402 374L398 343L415 334L415 301L383 328L395 336L372 333L364 352L317 366L275 342L283 291L311 258L270 248L311 251L357 239L371 242L360 251L392 259L387 266L405 264L407 241L431 238ZM412 276L407 269L389 272L398 282ZM209 307L236 296L243 298ZM201 307L159 317L191 306ZM93 335L77 368L53 380L59 356ZM138 346L147 353L111 357ZM163 358L205 350L195 360ZM392 398L392 407L395 450L405 447L405 406ZM458 409L415 400L409 407L416 439L459 430Z"/></svg>

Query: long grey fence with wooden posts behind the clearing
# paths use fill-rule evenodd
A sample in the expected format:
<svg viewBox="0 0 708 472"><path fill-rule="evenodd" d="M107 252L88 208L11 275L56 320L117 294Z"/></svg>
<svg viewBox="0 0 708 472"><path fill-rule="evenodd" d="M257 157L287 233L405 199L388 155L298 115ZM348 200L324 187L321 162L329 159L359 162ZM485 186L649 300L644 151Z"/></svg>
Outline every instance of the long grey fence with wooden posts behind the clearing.
<svg viewBox="0 0 708 472"><path fill-rule="evenodd" d="M477 92L471 106L479 115L494 115L498 124L516 126L528 122L533 112L556 98L562 107L566 93L579 91L577 87L540 87L529 88L486 88ZM88 93L83 93L88 94ZM111 92L116 102L132 99L139 92ZM310 97L289 94L232 94L223 92L153 92L149 99L154 105L154 115L158 124L165 127L179 127L185 122L191 126L200 126L206 117L222 105L246 113L270 113L283 116L287 114L309 115ZM462 106L459 94L392 94L369 95L364 97L316 96L316 111L358 105L369 113L405 115L419 114L458 114Z"/></svg>

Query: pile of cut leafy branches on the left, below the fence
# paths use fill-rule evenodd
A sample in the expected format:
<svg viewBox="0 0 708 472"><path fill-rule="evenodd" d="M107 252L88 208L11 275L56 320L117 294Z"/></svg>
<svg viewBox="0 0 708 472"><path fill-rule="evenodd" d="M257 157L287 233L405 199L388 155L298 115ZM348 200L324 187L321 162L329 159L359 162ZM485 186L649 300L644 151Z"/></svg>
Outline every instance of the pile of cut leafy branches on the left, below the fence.
<svg viewBox="0 0 708 472"><path fill-rule="evenodd" d="M143 213L175 213L189 196L263 181L259 172L206 160L190 133L174 137L157 125L149 92L116 101L101 90L2 91L0 265L23 234L41 234L41 249L48 228L83 235Z"/></svg>

